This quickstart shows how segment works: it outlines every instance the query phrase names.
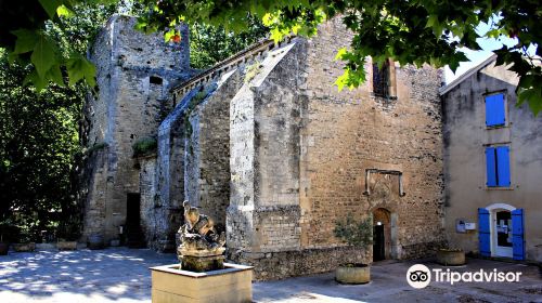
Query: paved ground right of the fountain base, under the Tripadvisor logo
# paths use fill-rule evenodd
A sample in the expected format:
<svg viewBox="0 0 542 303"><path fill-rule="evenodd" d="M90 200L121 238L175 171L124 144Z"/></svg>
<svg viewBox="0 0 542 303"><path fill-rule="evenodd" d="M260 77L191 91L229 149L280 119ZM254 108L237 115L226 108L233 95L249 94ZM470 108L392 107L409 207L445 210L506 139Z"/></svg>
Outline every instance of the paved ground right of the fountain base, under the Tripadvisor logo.
<svg viewBox="0 0 542 303"><path fill-rule="evenodd" d="M476 272L520 272L519 282L449 282L431 281L424 289L406 282L406 271L413 264L430 269ZM468 264L444 267L433 260L384 261L371 267L372 281L348 286L334 280L334 274L321 274L278 281L255 282L256 302L542 302L542 276L538 266L469 259Z"/></svg>

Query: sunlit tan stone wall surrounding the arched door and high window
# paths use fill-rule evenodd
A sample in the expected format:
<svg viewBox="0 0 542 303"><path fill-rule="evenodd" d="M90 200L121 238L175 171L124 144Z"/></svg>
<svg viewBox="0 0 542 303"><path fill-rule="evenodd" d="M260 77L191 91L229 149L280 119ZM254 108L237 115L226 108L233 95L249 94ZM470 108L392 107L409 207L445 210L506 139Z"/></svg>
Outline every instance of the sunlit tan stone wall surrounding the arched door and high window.
<svg viewBox="0 0 542 303"><path fill-rule="evenodd" d="M336 246L336 220L385 208L397 219L393 258L427 255L443 241L441 73L396 64L397 98L388 100L372 94L369 60L367 81L338 92L332 83L343 70L334 56L349 37L335 19L308 42L301 246ZM373 176L373 194L363 195L367 169L401 171L406 195L399 196L398 176L391 175Z"/></svg>

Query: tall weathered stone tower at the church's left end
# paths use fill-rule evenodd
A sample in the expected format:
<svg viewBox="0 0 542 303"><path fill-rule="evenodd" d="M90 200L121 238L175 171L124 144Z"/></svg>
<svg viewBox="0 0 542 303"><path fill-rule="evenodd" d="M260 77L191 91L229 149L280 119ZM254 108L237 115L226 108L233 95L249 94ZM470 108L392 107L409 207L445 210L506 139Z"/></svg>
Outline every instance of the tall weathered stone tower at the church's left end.
<svg viewBox="0 0 542 303"><path fill-rule="evenodd" d="M192 74L186 26L180 27L180 43L167 43L162 34L144 35L134 24L134 18L113 16L89 53L98 85L88 97L82 130L83 239L99 234L106 245L127 236L130 241L130 233L141 236L133 235L141 229L140 171L132 145L156 139L160 121L175 106L170 88Z"/></svg>

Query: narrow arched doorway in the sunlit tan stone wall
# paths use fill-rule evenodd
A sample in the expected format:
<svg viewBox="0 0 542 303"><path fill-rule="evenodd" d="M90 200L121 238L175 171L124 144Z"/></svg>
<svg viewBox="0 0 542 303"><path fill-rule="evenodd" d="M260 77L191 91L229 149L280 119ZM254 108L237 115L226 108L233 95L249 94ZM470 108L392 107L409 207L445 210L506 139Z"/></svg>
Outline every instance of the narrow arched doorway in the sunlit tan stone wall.
<svg viewBox="0 0 542 303"><path fill-rule="evenodd" d="M384 208L373 211L373 261L391 259L391 213Z"/></svg>

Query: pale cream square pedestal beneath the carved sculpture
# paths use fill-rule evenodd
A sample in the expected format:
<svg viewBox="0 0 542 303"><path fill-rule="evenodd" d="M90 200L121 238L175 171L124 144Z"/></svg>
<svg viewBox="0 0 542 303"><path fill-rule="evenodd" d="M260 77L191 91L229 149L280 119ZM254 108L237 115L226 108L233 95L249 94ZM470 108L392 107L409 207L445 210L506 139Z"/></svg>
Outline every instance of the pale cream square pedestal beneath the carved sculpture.
<svg viewBox="0 0 542 303"><path fill-rule="evenodd" d="M205 273L182 271L179 264L151 267L153 303L251 302L254 267L223 265L223 269Z"/></svg>

